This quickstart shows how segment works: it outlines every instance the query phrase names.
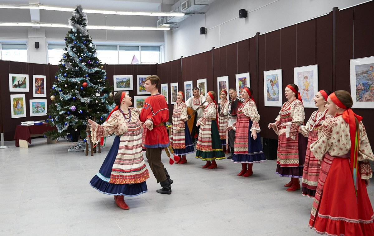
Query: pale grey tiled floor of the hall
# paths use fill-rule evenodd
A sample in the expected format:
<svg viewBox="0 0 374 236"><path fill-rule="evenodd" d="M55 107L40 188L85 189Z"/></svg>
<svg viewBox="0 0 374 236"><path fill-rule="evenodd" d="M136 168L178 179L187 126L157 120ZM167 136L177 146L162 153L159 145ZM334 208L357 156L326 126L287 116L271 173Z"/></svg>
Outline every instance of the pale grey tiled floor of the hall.
<svg viewBox="0 0 374 236"><path fill-rule="evenodd" d="M107 146L113 138L108 139ZM109 144L108 144L109 143ZM172 195L156 193L150 171L148 193L113 197L89 186L109 148L85 156L68 152L71 143L33 139L28 149L0 149L0 236L6 235L317 235L308 228L312 199L286 192L289 178L275 173L275 160L254 164L254 175L237 177L240 164L217 161L218 168L187 156L187 164L165 167ZM368 187L374 204L374 184Z"/></svg>

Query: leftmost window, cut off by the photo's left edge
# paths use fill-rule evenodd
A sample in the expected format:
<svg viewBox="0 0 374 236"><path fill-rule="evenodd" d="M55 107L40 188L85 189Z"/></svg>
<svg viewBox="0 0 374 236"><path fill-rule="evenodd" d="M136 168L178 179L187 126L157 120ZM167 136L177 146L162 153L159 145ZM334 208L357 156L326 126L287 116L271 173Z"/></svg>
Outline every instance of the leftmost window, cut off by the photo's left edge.
<svg viewBox="0 0 374 236"><path fill-rule="evenodd" d="M26 44L0 44L2 60L13 60L17 62L27 62Z"/></svg>

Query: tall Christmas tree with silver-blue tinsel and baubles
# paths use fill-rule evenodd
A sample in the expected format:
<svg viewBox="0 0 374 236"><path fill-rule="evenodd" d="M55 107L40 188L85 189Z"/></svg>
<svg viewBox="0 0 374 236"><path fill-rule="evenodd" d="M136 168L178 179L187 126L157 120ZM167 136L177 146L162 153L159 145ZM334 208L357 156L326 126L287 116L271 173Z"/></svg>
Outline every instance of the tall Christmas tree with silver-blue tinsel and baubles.
<svg viewBox="0 0 374 236"><path fill-rule="evenodd" d="M52 104L48 108L48 122L57 128L45 133L50 139L65 137L72 131L79 132L84 139L87 119L96 118L101 124L114 108L112 87L95 56L96 50L86 28L87 15L82 11L82 6L77 6L69 19L72 28L65 38L66 52L50 90Z"/></svg>

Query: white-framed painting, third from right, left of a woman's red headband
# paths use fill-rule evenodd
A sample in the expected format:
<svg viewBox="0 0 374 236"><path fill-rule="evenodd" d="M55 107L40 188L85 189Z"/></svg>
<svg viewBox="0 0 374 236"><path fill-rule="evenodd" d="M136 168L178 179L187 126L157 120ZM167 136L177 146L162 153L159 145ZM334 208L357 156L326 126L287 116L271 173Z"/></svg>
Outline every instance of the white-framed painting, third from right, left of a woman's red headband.
<svg viewBox="0 0 374 236"><path fill-rule="evenodd" d="M282 69L264 71L265 106L282 106Z"/></svg>

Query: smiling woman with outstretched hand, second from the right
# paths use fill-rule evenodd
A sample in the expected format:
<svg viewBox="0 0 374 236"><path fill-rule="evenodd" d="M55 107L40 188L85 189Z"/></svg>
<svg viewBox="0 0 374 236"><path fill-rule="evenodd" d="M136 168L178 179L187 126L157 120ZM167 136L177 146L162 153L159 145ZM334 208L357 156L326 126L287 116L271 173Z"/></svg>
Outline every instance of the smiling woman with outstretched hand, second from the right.
<svg viewBox="0 0 374 236"><path fill-rule="evenodd" d="M318 107L318 110L312 113L306 125L297 125L291 122L281 124L281 126L286 127L286 129L283 129L283 131L285 131L286 135L289 137L296 137L299 133L303 134L304 137L308 137L303 178L301 179L301 193L304 196L312 198L314 198L314 195L316 193L321 165L318 159L314 157L313 153L310 152L310 145L317 140L318 130L324 122L325 118L331 117L327 114L327 108L325 106L327 103L327 97L330 94L331 91L329 90L320 90L318 93L316 93L316 96L314 97L314 103L315 106Z"/></svg>

